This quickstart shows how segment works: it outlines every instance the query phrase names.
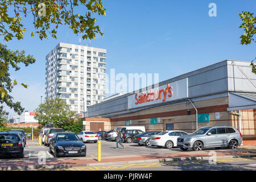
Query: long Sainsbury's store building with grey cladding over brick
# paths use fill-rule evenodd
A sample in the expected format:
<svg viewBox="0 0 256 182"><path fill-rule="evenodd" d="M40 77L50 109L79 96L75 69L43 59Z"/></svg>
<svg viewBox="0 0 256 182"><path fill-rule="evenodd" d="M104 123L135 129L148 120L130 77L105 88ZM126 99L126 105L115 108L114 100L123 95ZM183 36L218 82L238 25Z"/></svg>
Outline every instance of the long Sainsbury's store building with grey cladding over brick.
<svg viewBox="0 0 256 182"><path fill-rule="evenodd" d="M192 133L204 126L234 126L243 144L256 145L256 75L250 62L225 60L89 106L88 117L110 127L145 126Z"/></svg>

